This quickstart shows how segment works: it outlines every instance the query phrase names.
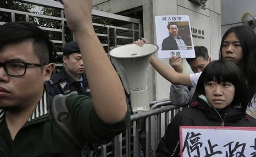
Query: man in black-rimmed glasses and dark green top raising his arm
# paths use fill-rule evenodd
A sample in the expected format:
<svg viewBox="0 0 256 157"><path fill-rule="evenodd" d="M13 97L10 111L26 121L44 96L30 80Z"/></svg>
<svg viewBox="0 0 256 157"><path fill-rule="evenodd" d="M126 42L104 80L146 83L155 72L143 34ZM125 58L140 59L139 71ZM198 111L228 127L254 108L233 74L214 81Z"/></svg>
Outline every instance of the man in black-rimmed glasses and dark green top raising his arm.
<svg viewBox="0 0 256 157"><path fill-rule="evenodd" d="M93 29L92 0L61 2L92 95L70 94L65 106L84 143L106 143L129 124L124 89ZM54 70L54 48L48 35L29 22L12 22L0 26L0 37L0 157L45 152L81 157L81 148L53 121L50 110L53 97L44 84Z"/></svg>

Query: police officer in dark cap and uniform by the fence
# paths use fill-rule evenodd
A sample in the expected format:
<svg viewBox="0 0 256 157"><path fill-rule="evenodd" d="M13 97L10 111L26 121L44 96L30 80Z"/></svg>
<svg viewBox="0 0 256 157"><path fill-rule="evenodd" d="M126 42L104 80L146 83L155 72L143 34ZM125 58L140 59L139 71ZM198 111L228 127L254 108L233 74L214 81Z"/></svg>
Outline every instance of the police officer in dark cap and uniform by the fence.
<svg viewBox="0 0 256 157"><path fill-rule="evenodd" d="M63 47L63 72L46 82L50 95L77 93L91 96L83 67L82 55L76 41Z"/></svg>

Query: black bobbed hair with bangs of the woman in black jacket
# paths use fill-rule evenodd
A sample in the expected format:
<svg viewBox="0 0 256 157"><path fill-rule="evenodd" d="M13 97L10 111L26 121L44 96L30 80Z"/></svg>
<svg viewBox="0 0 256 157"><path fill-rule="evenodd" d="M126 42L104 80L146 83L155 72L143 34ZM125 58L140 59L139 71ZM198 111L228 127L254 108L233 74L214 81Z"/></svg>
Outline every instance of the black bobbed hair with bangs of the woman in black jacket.
<svg viewBox="0 0 256 157"><path fill-rule="evenodd" d="M231 82L235 87L235 95L231 102L231 106L236 106L240 103L245 112L249 101L248 88L245 79L236 64L226 59L210 62L198 79L192 102L195 102L198 99L198 95L205 95L204 85L210 81L216 81L218 84L221 82Z"/></svg>

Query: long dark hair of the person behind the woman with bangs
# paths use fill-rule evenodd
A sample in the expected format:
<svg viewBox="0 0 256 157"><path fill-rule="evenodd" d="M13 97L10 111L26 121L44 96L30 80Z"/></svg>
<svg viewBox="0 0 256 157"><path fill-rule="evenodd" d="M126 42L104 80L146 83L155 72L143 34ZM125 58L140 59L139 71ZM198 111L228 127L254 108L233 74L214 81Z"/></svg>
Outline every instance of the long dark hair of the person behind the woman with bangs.
<svg viewBox="0 0 256 157"><path fill-rule="evenodd" d="M222 37L220 58L223 58L221 53L223 42L225 38L232 32L236 34L236 37L238 38L243 50L243 58L237 66L247 81L247 86L249 88L249 99L251 100L253 95L256 93L256 35L251 28L245 26L231 27Z"/></svg>

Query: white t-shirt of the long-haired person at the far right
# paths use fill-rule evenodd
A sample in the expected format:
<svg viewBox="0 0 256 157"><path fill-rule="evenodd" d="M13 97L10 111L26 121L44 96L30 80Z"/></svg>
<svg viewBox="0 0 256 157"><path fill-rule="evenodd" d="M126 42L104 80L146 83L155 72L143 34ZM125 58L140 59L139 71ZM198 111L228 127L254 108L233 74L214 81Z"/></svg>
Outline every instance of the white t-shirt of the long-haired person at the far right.
<svg viewBox="0 0 256 157"><path fill-rule="evenodd" d="M191 84L194 88L196 88L197 86L197 81L200 77L202 72L200 73L194 73L194 74L190 74L190 81ZM246 113L254 118L256 118L256 93L254 94L252 100L249 102L247 109L246 109Z"/></svg>

